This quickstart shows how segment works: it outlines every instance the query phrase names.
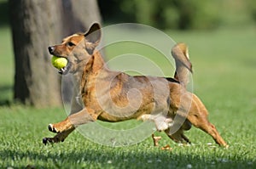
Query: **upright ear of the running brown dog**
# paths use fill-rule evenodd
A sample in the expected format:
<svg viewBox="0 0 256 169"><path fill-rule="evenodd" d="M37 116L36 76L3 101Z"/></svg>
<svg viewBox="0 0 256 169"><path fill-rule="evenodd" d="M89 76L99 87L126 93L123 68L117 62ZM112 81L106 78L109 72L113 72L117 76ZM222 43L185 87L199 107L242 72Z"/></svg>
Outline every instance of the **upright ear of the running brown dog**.
<svg viewBox="0 0 256 169"><path fill-rule="evenodd" d="M84 34L85 47L89 54L92 54L96 46L100 43L102 37L101 26L94 23L90 26L89 31Z"/></svg>

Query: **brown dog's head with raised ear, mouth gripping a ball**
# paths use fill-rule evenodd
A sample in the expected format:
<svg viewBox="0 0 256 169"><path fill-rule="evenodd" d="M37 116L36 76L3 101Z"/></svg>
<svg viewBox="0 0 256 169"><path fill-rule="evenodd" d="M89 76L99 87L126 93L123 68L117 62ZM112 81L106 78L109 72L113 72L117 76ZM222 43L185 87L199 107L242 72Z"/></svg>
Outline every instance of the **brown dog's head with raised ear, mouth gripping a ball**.
<svg viewBox="0 0 256 169"><path fill-rule="evenodd" d="M75 73L82 70L99 44L101 35L101 26L95 23L86 33L73 34L64 38L61 44L49 47L49 54L66 58L68 61L59 72L65 75L68 72Z"/></svg>

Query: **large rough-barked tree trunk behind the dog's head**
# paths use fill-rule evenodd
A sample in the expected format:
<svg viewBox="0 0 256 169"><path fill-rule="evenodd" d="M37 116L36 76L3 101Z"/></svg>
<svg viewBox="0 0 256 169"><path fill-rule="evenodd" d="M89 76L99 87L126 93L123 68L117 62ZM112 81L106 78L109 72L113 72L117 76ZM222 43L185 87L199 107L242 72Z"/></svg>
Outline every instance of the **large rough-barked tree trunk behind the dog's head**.
<svg viewBox="0 0 256 169"><path fill-rule="evenodd" d="M48 46L100 21L96 0L9 0L15 50L15 100L44 107L61 105L60 76Z"/></svg>

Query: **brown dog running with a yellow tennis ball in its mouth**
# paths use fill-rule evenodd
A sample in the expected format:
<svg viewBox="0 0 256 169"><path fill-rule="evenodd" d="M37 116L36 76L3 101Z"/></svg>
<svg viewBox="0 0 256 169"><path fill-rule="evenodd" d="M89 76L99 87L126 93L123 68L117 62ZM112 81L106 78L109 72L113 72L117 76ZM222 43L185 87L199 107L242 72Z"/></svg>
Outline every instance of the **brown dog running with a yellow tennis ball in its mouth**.
<svg viewBox="0 0 256 169"><path fill-rule="evenodd" d="M189 130L192 124L210 134L217 144L228 146L207 120L208 112L204 104L186 90L192 65L185 44L178 43L172 48L176 61L172 79L129 76L109 70L101 54L95 50L100 39L100 25L94 24L85 34L74 34L60 45L49 47L50 54L67 58L68 64L60 73L73 74L77 84L74 91L79 93L74 93L71 114L67 119L49 124L49 131L57 134L54 138L44 138L44 144L64 141L75 127L89 121L139 119L154 121L158 131L165 131L178 143L190 143L183 131ZM77 96L84 103L83 109L74 99Z"/></svg>

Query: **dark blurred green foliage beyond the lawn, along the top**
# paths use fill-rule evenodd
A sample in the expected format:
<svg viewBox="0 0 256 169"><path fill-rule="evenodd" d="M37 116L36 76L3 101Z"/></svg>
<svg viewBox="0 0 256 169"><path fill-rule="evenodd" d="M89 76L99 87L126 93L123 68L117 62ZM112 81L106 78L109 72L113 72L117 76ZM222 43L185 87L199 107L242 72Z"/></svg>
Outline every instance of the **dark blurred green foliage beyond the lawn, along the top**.
<svg viewBox="0 0 256 169"><path fill-rule="evenodd" d="M226 15L230 14L227 8L233 8L241 12L241 15L256 20L253 0L99 0L99 5L102 17L107 22L138 22L162 29L217 28L224 24ZM241 11L243 7L249 10Z"/></svg>

